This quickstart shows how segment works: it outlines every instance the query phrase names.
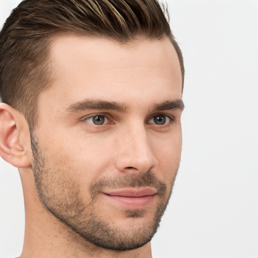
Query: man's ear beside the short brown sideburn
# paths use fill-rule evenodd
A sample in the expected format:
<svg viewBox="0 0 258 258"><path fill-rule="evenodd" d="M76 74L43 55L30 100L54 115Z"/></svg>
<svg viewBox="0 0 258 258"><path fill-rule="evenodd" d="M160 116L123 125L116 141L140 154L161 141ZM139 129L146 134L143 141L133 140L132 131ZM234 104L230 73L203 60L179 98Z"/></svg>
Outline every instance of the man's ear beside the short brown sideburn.
<svg viewBox="0 0 258 258"><path fill-rule="evenodd" d="M18 168L30 167L32 161L28 123L5 103L0 103L0 156Z"/></svg>

